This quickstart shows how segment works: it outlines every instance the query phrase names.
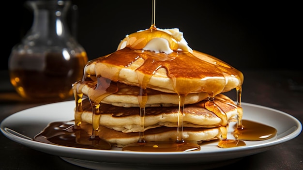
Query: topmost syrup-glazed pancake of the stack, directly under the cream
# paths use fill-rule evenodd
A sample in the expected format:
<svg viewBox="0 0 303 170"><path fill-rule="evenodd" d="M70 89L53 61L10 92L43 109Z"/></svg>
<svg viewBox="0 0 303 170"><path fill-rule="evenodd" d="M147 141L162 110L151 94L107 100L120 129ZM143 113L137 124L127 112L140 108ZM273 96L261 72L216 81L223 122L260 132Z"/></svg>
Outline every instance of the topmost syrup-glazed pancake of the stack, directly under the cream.
<svg viewBox="0 0 303 170"><path fill-rule="evenodd" d="M241 86L243 81L237 69L196 50L166 54L125 47L90 61L85 74L178 94L216 95Z"/></svg>

